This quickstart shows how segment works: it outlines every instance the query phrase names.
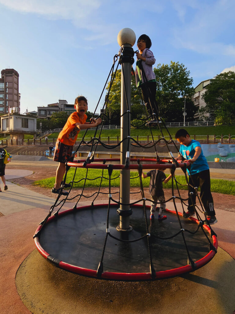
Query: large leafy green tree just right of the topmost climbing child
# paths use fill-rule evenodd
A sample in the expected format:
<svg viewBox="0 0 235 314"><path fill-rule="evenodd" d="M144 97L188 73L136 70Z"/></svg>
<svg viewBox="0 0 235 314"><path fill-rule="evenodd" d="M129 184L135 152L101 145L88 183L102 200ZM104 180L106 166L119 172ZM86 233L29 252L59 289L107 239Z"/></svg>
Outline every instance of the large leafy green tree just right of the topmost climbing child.
<svg viewBox="0 0 235 314"><path fill-rule="evenodd" d="M157 68L154 68L154 73L157 81L156 101L160 116L166 122L178 122L182 116L182 107L186 96L187 121L192 120L194 110L192 110L190 102L194 88L190 71L182 63L171 61L170 64L158 64ZM191 109L188 110L187 107Z"/></svg>

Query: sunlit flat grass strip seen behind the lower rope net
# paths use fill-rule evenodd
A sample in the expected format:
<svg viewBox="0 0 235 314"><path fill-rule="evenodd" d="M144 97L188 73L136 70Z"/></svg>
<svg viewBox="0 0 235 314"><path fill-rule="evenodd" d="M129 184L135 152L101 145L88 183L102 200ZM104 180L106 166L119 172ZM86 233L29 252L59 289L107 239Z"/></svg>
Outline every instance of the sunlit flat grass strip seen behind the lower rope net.
<svg viewBox="0 0 235 314"><path fill-rule="evenodd" d="M67 173L67 179L66 182L74 181L73 188L78 187L81 188L84 185L85 182L85 177L86 177L86 169L84 168L78 168L76 171L76 176L74 179L74 174L75 170L73 168L70 168L70 170ZM99 187L100 181L101 181L101 176L102 176L102 170L97 170L97 169L88 169L87 171L87 179L86 179L86 187ZM115 170L112 172L111 176L111 187L119 187L120 186L120 171ZM139 187L139 178L135 178L138 176L137 171L131 171L130 172L131 179L130 180L130 186L131 187ZM168 175L167 175L168 176ZM106 179L105 179L106 178ZM185 185L185 176L176 176L176 180L182 184ZM144 187L149 187L149 177L143 179L143 186ZM102 179L102 187L108 187L108 172L107 170L104 170L103 172L103 179ZM55 183L55 177L51 177L48 179L43 179L39 181L35 181L34 185L39 185L40 187L45 187L45 188L52 188ZM174 187L175 183L174 183ZM171 180L167 183L164 184L164 188L171 188ZM181 186L179 185L179 189L182 190L187 190L186 186ZM227 180L222 180L222 179L211 179L211 191L212 192L217 192L217 193L222 193L222 194L230 194L230 195L235 195L235 182L234 181L227 181ZM177 194L177 191L175 191L175 194Z"/></svg>

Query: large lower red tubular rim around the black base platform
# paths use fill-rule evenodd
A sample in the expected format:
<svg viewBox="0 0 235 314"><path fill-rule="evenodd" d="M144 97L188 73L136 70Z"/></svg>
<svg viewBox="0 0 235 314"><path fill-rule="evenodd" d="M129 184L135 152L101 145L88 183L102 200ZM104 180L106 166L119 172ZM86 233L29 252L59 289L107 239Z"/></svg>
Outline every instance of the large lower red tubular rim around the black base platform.
<svg viewBox="0 0 235 314"><path fill-rule="evenodd" d="M96 204L94 205L94 207L100 207L100 206L108 206L108 204ZM111 206L117 206L117 204L111 204ZM143 207L140 204L135 204L135 207ZM77 210L81 210L81 209L88 209L90 208L90 206L82 206L77 208ZM150 208L149 205L146 205L146 208ZM67 209L64 210L62 212L59 212L59 216L60 215L64 215L67 214L68 212L73 211L73 209ZM170 210L170 209L166 209L166 211L172 213L172 214L176 214L176 212L174 210ZM183 216L182 213L178 214L180 216ZM51 216L48 220L47 223L50 222L50 220L54 219L55 216ZM194 221L195 223L199 224L199 221L196 218L190 217L189 219L191 219L192 221ZM37 228L35 234L41 229L41 225L39 225L39 227ZM203 225L203 228L206 229L206 231L210 234L211 233L211 229L209 228L209 226L207 225ZM216 248L218 248L218 241L217 241L217 237L215 235L212 236L213 239L213 246ZM38 237L34 238L34 242L35 245L39 251L39 253L45 257L46 259L48 258L48 256L50 255L48 252L46 252L43 247L40 245L40 241ZM178 267L178 268L173 268L170 270L163 270L163 271L158 271L156 272L156 276L154 279L152 279L151 274L150 273L114 273L114 272L103 272L101 277L97 276L97 271L93 270L93 269L88 269L88 268L82 268L79 266L75 266L75 265L71 265L69 263L65 263L63 261L60 261L60 263L58 264L58 266L62 269L65 269L67 271L70 271L72 273L77 273L80 275L84 275L87 277L92 277L92 278L96 278L96 279L108 279L108 280L128 280L128 281L140 281L140 280L156 280L156 279L165 279L165 278L170 278L170 277L175 277L175 276L179 276L183 273L189 273L191 271L194 271L198 268L201 268L202 266L206 265L207 263L209 263L212 258L215 256L216 252L211 250L209 253L207 253L204 257L202 257L201 259L199 259L198 261L195 262L196 268L192 268L191 265L185 265L182 267Z"/></svg>

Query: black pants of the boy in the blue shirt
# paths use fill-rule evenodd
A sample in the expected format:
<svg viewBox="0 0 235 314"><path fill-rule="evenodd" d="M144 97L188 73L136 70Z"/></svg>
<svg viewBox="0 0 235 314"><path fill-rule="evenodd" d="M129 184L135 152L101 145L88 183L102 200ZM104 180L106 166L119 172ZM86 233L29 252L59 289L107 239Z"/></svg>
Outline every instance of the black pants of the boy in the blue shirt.
<svg viewBox="0 0 235 314"><path fill-rule="evenodd" d="M189 184L190 184L189 193L193 192L193 195L191 196L193 203L196 204L196 194L195 189L193 187L200 187L201 188L200 198L205 208L206 214L208 216L215 216L214 202L211 194L210 170L209 169L204 170L196 173L195 175L189 176ZM191 187L191 185L193 187ZM194 210L191 198L189 194L188 211L190 212Z"/></svg>

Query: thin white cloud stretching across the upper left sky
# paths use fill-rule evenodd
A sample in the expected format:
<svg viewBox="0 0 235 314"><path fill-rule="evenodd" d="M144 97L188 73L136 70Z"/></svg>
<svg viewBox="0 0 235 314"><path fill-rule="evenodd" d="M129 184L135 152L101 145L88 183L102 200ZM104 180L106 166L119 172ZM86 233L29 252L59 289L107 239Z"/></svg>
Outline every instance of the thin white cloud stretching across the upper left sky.
<svg viewBox="0 0 235 314"><path fill-rule="evenodd" d="M70 20L77 29L87 30L83 33L83 40L98 41L99 45L110 43L113 39L112 31L116 25L111 23L107 27L105 6L107 0L0 0L6 8L24 14L38 14L46 19ZM118 30L119 31L119 30ZM112 34L112 35L111 35ZM118 33L117 33L118 34Z"/></svg>

